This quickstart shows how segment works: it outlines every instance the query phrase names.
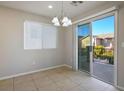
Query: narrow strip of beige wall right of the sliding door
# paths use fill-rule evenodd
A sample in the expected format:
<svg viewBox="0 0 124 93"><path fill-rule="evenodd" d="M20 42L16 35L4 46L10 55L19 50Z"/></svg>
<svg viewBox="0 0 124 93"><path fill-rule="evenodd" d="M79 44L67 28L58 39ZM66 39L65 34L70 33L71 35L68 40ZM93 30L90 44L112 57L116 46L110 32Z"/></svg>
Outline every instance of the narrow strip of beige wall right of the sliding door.
<svg viewBox="0 0 124 93"><path fill-rule="evenodd" d="M118 85L124 88L124 47L121 47L124 42L124 5L119 10L118 21Z"/></svg>

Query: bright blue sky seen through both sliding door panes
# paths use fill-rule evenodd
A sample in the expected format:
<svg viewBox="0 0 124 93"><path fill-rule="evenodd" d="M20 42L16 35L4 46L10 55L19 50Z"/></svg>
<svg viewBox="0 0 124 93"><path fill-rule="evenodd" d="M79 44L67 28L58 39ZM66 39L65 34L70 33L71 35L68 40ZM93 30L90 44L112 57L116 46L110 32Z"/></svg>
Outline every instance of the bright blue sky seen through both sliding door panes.
<svg viewBox="0 0 124 93"><path fill-rule="evenodd" d="M106 17L92 22L93 35L107 34L114 32L114 16ZM78 35L87 36L90 33L89 24L79 26Z"/></svg>

